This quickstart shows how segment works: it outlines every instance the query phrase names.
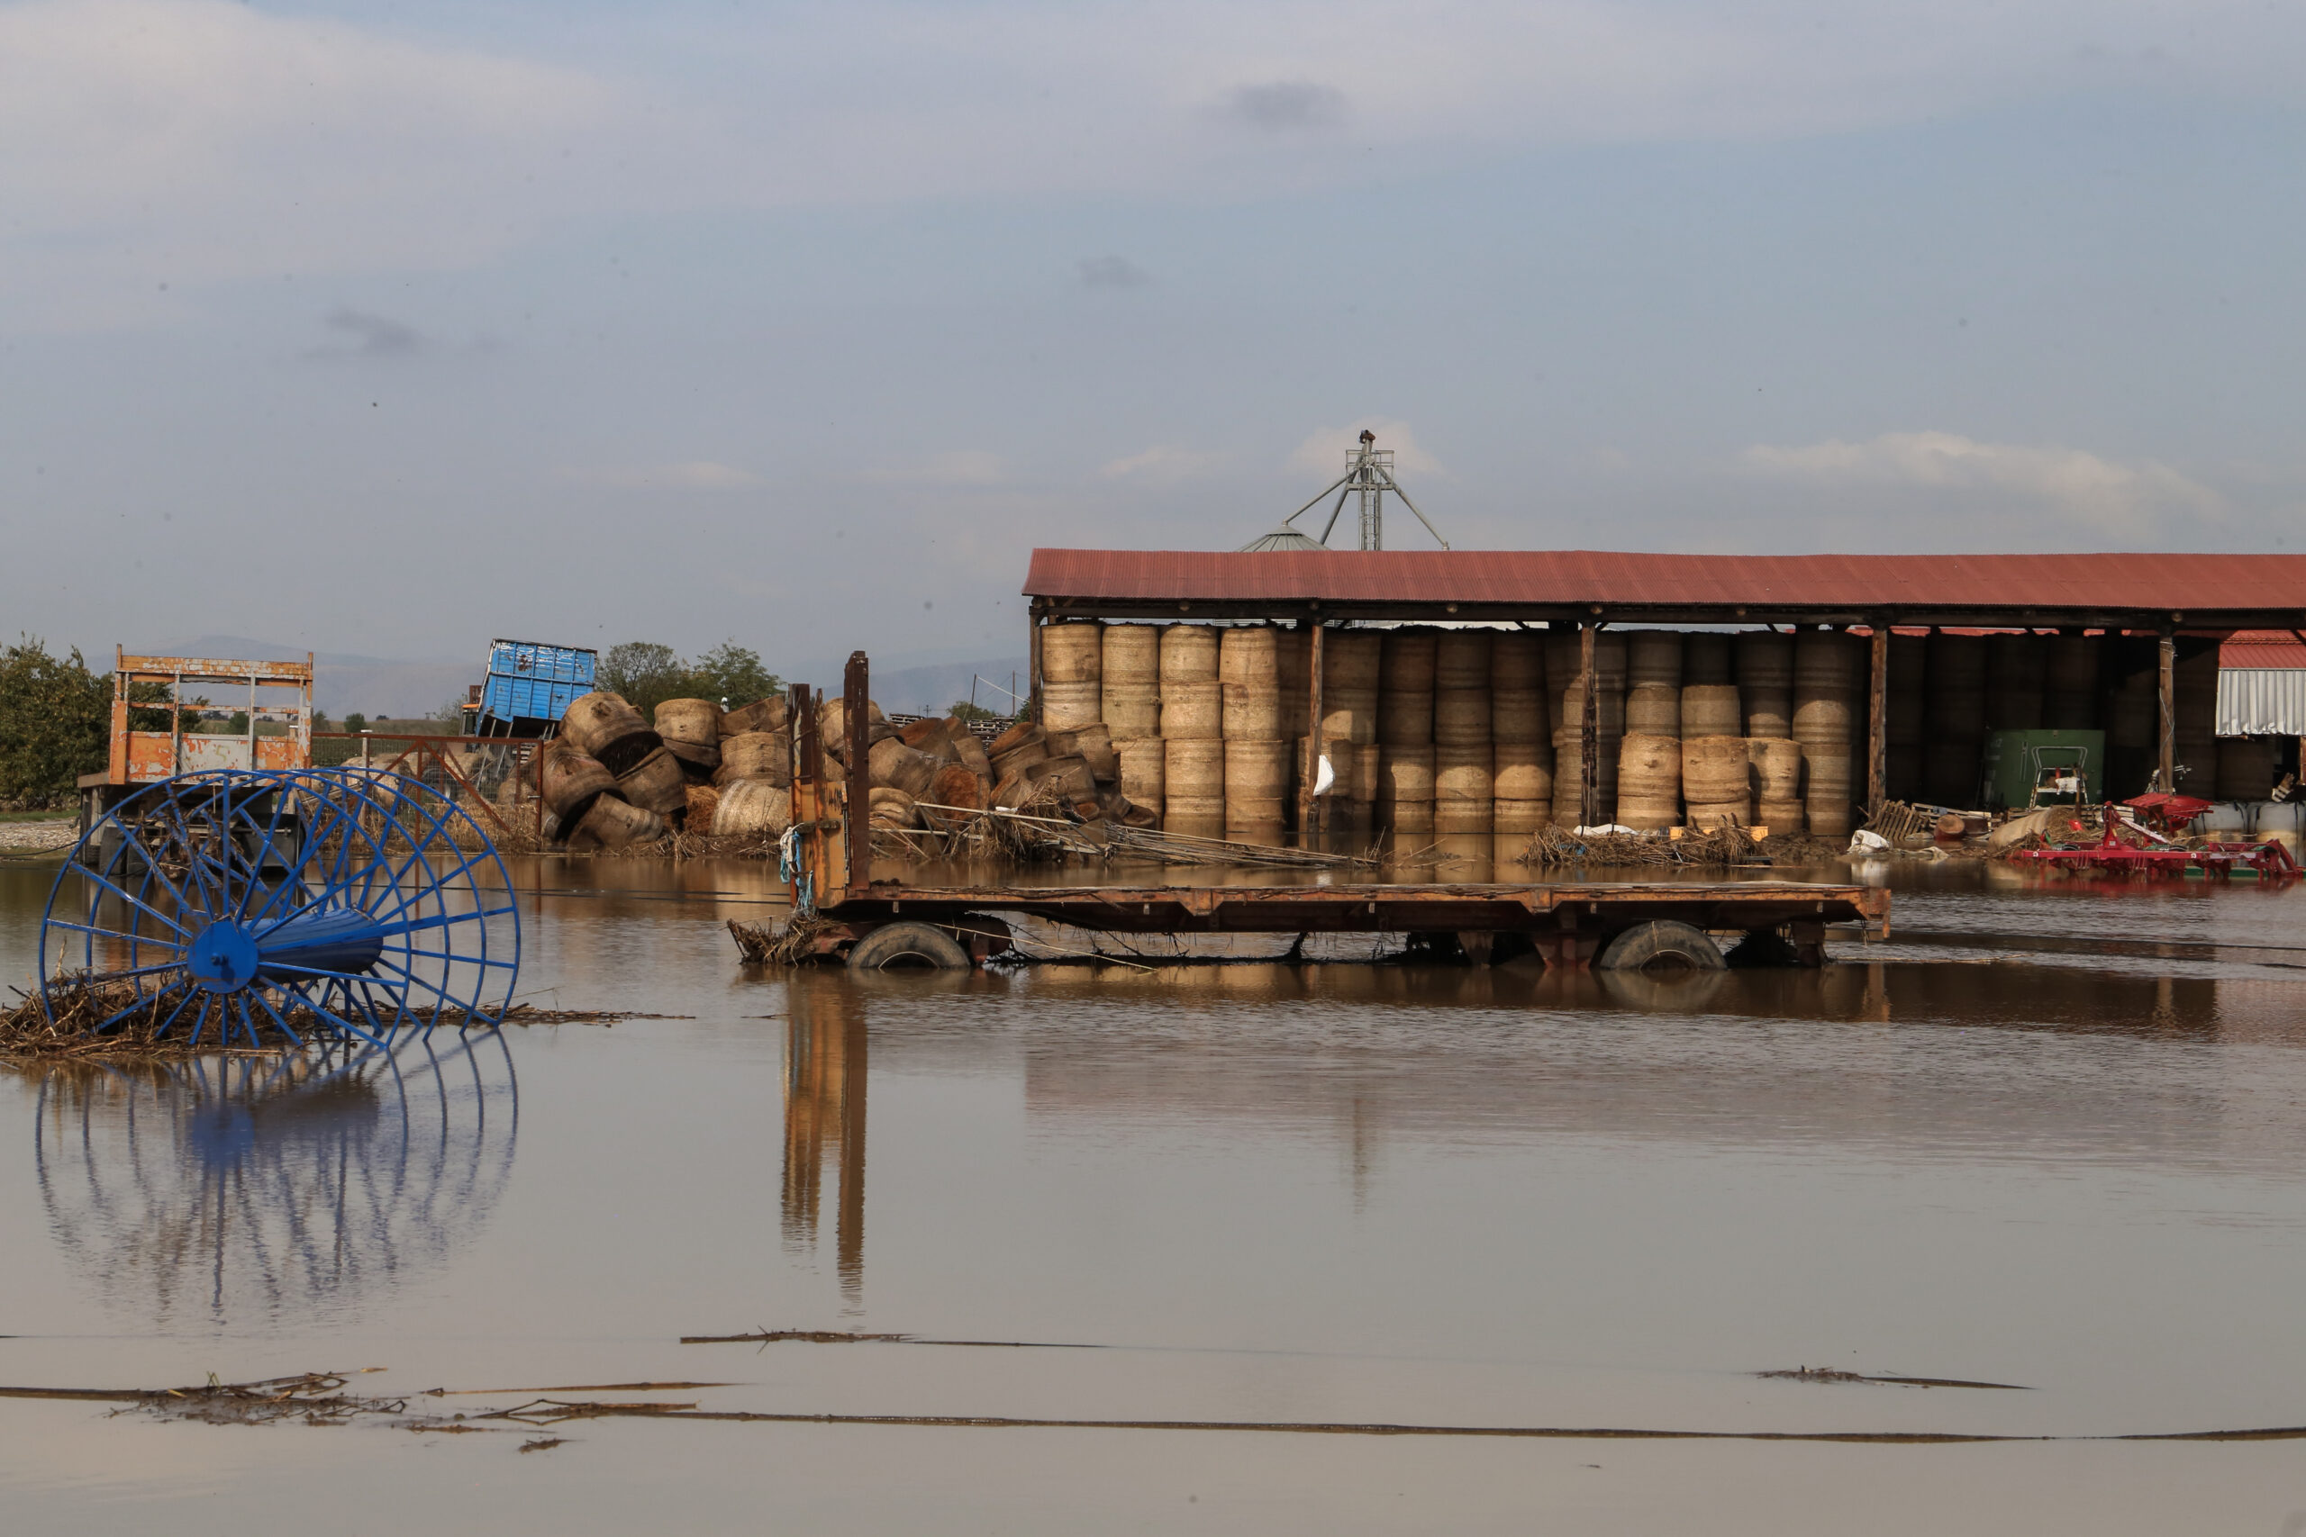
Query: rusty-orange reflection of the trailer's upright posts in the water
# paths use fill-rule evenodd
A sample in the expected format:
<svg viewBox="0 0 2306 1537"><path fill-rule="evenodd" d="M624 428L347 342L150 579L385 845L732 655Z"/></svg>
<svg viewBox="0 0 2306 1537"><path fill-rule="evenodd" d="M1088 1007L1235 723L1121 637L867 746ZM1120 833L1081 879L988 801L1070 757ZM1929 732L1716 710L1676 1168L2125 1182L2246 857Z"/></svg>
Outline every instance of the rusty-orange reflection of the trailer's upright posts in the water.
<svg viewBox="0 0 2306 1537"><path fill-rule="evenodd" d="M784 1035L784 1242L816 1247L826 1152L839 1171L835 1254L842 1300L865 1302L865 1009L849 977L800 970Z"/></svg>

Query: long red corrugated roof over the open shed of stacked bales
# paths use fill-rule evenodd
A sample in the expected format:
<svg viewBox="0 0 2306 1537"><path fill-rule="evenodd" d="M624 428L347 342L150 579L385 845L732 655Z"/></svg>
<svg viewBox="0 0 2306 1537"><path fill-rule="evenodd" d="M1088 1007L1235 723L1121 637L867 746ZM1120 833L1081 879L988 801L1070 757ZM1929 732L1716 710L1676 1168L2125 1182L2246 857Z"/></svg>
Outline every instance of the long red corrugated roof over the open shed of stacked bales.
<svg viewBox="0 0 2306 1537"><path fill-rule="evenodd" d="M2306 611L2306 555L1033 551L1026 597L1271 604Z"/></svg>

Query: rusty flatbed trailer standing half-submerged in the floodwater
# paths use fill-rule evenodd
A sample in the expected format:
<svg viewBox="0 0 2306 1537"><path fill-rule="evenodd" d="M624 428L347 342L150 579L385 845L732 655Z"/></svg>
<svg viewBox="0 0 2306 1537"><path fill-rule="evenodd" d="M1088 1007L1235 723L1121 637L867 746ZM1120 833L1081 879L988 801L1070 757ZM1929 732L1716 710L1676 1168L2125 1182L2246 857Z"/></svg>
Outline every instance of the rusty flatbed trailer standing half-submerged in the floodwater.
<svg viewBox="0 0 2306 1537"><path fill-rule="evenodd" d="M1423 933L1453 936L1476 961L1527 945L1547 966L1587 966L1617 936L1651 922L1704 933L1771 933L1796 963L1824 961L1829 924L1863 924L1889 933L1889 892L1866 885L1799 880L1575 880L1575 883L1437 883L1437 885L998 885L915 887L872 880L865 807L872 793L869 668L849 657L844 680L846 767L832 770L816 735L805 684L793 689L796 774L793 853L786 880L793 910L816 919L812 947L846 952L888 924L948 931L973 959L1008 947L998 915L1024 915L1102 933Z"/></svg>

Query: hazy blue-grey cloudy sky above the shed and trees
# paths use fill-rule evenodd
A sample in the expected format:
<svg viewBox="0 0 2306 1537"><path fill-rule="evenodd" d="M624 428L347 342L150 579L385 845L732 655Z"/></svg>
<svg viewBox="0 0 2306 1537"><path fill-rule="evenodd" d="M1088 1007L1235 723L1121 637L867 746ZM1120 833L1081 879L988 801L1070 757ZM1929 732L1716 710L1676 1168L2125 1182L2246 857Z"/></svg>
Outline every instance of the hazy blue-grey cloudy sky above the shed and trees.
<svg viewBox="0 0 2306 1537"><path fill-rule="evenodd" d="M2301 58L2264 0L0 2L0 634L1010 657L1033 546L1234 548L1363 426L1457 548L2299 548Z"/></svg>

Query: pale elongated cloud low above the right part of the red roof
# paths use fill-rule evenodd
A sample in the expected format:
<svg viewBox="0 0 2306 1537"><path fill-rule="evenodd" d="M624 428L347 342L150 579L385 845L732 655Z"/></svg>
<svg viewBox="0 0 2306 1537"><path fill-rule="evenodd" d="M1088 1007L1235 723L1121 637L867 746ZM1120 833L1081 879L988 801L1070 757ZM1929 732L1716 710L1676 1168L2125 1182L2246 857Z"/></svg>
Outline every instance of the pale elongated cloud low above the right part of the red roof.
<svg viewBox="0 0 2306 1537"><path fill-rule="evenodd" d="M1960 433L1882 433L1866 442L1757 445L1739 463L1759 475L1817 486L1884 486L1985 493L2055 512L2108 535L2138 537L2168 516L2218 518L2223 498L2177 470Z"/></svg>

